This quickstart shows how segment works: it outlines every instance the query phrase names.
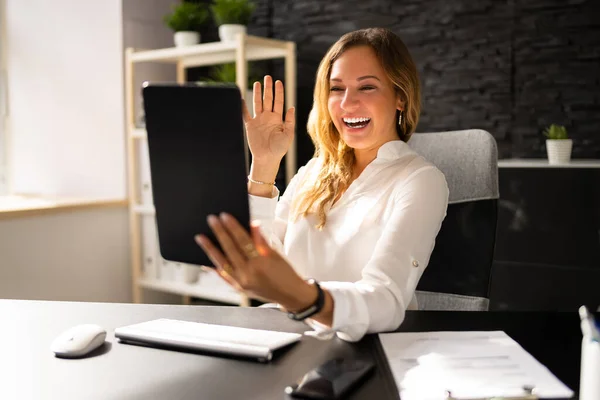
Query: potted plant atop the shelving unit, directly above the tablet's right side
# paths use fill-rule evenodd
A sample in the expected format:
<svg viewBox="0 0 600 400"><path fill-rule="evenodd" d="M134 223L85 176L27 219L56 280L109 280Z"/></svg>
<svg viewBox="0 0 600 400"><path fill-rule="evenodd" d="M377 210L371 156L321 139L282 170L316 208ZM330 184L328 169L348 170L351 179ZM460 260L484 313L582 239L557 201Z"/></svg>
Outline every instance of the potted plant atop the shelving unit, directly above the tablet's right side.
<svg viewBox="0 0 600 400"><path fill-rule="evenodd" d="M249 0L215 0L210 8L219 26L219 38L227 42L235 40L239 33L246 33L256 5Z"/></svg>

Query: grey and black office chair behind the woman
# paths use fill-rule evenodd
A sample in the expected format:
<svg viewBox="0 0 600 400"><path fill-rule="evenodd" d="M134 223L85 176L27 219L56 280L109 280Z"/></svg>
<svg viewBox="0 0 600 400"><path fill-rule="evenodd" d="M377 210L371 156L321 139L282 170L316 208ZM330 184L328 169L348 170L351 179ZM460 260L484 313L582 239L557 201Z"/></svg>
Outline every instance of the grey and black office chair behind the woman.
<svg viewBox="0 0 600 400"><path fill-rule="evenodd" d="M417 286L420 310L487 311L496 241L498 153L483 130L417 133L408 144L446 176L446 218Z"/></svg>

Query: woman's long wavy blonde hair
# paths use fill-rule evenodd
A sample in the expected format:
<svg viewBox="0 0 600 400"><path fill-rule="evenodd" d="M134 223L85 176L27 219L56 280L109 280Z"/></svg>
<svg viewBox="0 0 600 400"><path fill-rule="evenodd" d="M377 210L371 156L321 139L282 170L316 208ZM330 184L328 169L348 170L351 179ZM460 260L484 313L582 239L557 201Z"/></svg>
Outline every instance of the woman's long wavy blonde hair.
<svg viewBox="0 0 600 400"><path fill-rule="evenodd" d="M407 142L419 121L421 112L421 89L415 63L402 40L384 28L368 28L350 32L331 46L317 70L313 108L308 118L308 134L315 146L314 157L320 158L321 169L307 177L293 205L293 215L316 214L316 227L322 229L327 221L326 208L333 204L337 195L352 182L354 149L346 145L337 131L327 103L329 78L333 63L348 49L369 46L374 51L390 79L396 93L404 102L402 124L396 125L398 138ZM396 120L398 114L396 111Z"/></svg>

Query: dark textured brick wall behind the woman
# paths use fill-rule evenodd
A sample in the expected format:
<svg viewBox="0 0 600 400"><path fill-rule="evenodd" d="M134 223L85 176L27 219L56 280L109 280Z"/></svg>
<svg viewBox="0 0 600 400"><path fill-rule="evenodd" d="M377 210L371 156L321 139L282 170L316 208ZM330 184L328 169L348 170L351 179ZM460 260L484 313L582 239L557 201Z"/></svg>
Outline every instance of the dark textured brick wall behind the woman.
<svg viewBox="0 0 600 400"><path fill-rule="evenodd" d="M545 157L542 129L566 125L574 157L600 158L599 0L256 0L252 34L297 43L300 163L319 61L342 34L382 26L423 83L418 131L482 128L501 157ZM282 77L281 64L271 70Z"/></svg>

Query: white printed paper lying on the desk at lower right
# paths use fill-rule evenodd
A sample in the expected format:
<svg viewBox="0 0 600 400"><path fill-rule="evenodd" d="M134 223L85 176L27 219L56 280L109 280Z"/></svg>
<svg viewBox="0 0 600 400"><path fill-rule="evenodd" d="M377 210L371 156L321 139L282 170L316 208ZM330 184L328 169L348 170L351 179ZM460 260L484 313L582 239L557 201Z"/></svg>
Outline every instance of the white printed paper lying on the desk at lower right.
<svg viewBox="0 0 600 400"><path fill-rule="evenodd" d="M379 338L402 400L573 395L506 333L386 333Z"/></svg>

